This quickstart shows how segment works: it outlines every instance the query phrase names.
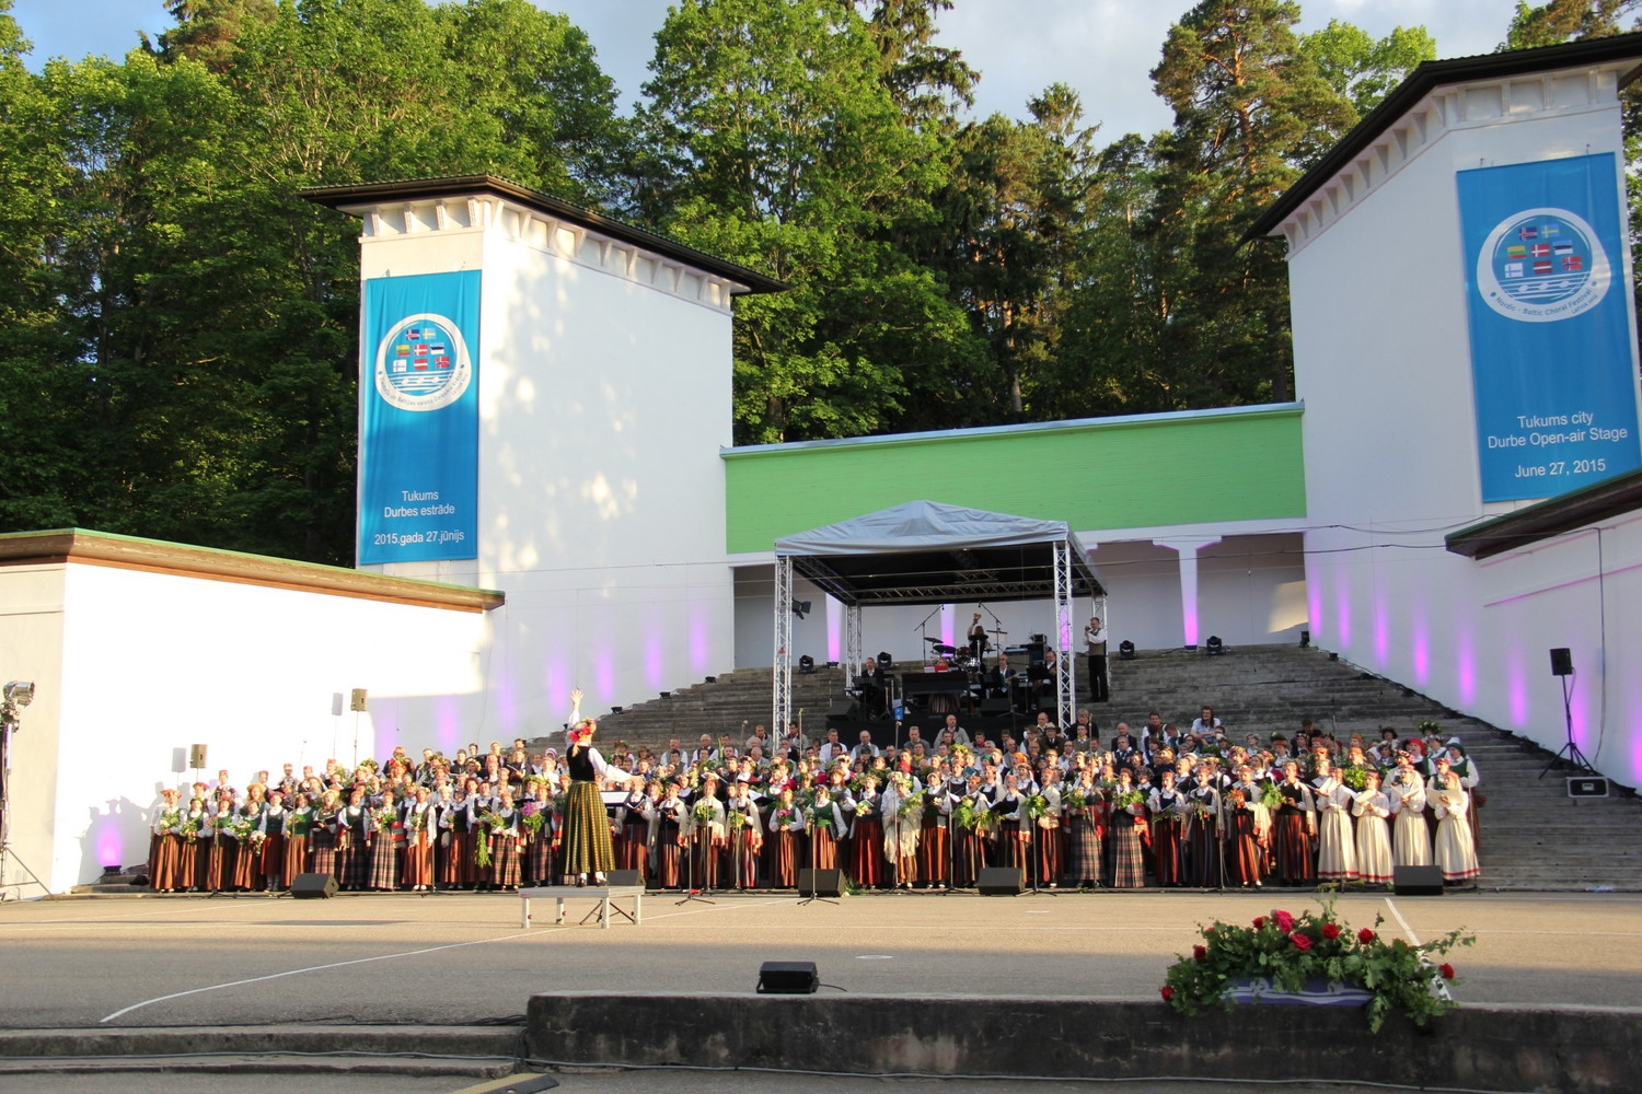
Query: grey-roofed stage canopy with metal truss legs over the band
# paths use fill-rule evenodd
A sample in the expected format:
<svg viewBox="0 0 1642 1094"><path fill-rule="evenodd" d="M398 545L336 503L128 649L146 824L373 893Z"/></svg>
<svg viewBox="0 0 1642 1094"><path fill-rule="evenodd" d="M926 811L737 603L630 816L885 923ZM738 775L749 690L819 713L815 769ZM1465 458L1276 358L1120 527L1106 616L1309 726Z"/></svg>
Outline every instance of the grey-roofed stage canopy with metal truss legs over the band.
<svg viewBox="0 0 1642 1094"><path fill-rule="evenodd" d="M906 502L775 541L775 725L791 695L793 572L846 605L844 658L860 663L872 604L1054 600L1056 646L1071 650L1072 599L1105 589L1064 520ZM1071 723L1072 658L1059 658L1061 725Z"/></svg>

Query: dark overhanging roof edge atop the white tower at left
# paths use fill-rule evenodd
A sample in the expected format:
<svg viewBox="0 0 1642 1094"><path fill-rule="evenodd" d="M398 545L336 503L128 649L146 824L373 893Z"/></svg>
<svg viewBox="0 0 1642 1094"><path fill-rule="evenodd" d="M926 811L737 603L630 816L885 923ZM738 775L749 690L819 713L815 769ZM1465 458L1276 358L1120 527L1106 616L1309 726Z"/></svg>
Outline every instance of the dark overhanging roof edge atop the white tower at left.
<svg viewBox="0 0 1642 1094"><path fill-rule="evenodd" d="M397 179L391 182L360 182L355 185L322 185L297 190L297 194L315 205L327 205L355 217L361 215L365 208L383 202L417 202L442 197L493 194L496 197L504 197L511 202L527 205L537 212L547 213L548 217L568 220L570 223L591 228L593 231L606 235L612 239L631 243L637 248L644 248L645 251L654 251L663 258L675 259L686 266L693 266L695 269L736 282L741 290L732 292L731 295L742 297L759 292L785 292L788 289L787 282L760 274L749 266L716 258L706 251L696 251L695 248L685 246L677 239L658 236L654 231L645 231L644 228L634 228L632 225L612 220L604 213L594 213L591 208L571 205L570 202L557 198L552 194L532 190L530 187L509 182L499 175L448 175L442 179Z"/></svg>

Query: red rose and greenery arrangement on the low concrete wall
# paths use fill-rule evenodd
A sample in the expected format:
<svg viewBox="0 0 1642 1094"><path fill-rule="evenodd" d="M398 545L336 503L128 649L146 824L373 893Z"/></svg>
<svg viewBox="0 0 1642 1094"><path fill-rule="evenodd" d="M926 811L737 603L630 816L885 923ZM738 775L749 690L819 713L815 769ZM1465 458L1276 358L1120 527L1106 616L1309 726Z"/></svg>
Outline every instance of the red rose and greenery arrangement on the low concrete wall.
<svg viewBox="0 0 1642 1094"><path fill-rule="evenodd" d="M1374 928L1353 932L1335 919L1333 902L1320 912L1274 910L1254 919L1250 927L1233 927L1215 920L1204 927L1204 941L1192 946L1167 973L1163 999L1181 1014L1197 1014L1204 1007L1230 1007L1228 992L1238 979L1266 979L1274 989L1299 992L1307 981L1338 982L1373 996L1368 1002L1368 1028L1378 1032L1392 1010L1414 1025L1427 1025L1458 1004L1443 981L1453 979L1453 966L1432 963L1453 946L1470 946L1475 935L1453 930L1424 945L1379 937L1381 917Z"/></svg>

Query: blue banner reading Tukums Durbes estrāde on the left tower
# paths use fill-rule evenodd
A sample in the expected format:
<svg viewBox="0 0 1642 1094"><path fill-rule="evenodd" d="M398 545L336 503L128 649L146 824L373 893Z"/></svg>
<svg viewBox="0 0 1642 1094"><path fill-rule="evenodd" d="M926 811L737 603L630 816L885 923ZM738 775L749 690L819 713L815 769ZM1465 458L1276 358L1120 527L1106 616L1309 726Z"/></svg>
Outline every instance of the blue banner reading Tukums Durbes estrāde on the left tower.
<svg viewBox="0 0 1642 1094"><path fill-rule="evenodd" d="M479 272L365 282L360 564L478 558Z"/></svg>

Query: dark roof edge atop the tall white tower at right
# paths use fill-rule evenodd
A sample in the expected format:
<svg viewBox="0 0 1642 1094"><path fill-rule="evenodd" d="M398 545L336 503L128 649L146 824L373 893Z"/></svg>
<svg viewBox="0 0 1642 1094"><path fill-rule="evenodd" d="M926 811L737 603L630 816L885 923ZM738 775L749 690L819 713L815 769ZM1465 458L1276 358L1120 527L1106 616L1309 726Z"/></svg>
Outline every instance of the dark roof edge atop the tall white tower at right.
<svg viewBox="0 0 1642 1094"><path fill-rule="evenodd" d="M1537 49L1511 49L1507 52L1488 52L1475 57L1450 57L1445 61L1425 61L1386 95L1378 107L1368 112L1356 126L1351 128L1328 153L1317 161L1317 166L1296 180L1282 197L1266 207L1266 212L1243 235L1245 239L1277 235L1277 228L1320 190L1340 171L1351 166L1379 136L1389 130L1397 118L1406 115L1432 90L1447 84L1466 84L1471 80L1496 80L1527 72L1548 72L1552 69L1576 69L1593 64L1612 64L1616 61L1642 59L1642 33L1612 34L1609 38L1586 38L1583 41L1563 43L1558 46L1540 46ZM1619 85L1624 87L1635 77L1635 69L1627 72Z"/></svg>

